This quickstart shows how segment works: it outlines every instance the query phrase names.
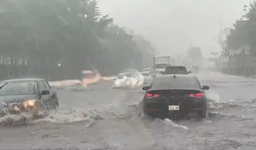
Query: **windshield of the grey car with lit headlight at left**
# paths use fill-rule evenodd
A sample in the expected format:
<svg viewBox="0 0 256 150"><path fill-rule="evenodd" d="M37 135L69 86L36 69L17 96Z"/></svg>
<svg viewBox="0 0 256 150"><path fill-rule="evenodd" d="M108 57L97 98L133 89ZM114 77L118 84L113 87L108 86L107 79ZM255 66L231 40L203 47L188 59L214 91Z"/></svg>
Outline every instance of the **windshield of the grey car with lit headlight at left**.
<svg viewBox="0 0 256 150"><path fill-rule="evenodd" d="M16 95L16 94L35 94L37 84L35 81L23 81L23 82L6 82L0 84L0 96L4 95Z"/></svg>

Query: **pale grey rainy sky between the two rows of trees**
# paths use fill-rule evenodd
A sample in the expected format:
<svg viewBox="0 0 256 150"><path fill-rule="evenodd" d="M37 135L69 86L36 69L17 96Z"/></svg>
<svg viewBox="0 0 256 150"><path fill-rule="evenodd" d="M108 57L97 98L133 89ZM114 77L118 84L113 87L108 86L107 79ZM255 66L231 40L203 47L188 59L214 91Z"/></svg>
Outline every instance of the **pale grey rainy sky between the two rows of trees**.
<svg viewBox="0 0 256 150"><path fill-rule="evenodd" d="M243 15L250 0L99 0L100 10L116 24L143 34L161 54L184 54L200 46L204 56L220 50L214 36Z"/></svg>

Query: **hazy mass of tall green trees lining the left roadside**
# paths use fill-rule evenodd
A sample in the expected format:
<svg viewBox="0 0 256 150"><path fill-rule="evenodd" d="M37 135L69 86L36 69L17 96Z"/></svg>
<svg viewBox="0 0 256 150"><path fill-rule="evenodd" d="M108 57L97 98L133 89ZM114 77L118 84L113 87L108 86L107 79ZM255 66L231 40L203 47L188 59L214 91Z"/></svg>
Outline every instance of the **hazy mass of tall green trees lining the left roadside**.
<svg viewBox="0 0 256 150"><path fill-rule="evenodd" d="M0 16L0 79L77 79L92 68L115 75L147 67L154 54L150 41L102 15L95 0L3 0Z"/></svg>

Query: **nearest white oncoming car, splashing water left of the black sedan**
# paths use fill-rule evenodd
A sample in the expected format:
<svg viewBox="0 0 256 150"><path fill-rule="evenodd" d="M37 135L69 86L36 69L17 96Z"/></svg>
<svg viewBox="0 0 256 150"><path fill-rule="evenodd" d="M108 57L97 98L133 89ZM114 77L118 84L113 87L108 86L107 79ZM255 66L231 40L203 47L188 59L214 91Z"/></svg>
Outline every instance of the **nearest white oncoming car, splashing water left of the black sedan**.
<svg viewBox="0 0 256 150"><path fill-rule="evenodd" d="M131 73L119 73L115 80L113 88L127 88L132 86Z"/></svg>

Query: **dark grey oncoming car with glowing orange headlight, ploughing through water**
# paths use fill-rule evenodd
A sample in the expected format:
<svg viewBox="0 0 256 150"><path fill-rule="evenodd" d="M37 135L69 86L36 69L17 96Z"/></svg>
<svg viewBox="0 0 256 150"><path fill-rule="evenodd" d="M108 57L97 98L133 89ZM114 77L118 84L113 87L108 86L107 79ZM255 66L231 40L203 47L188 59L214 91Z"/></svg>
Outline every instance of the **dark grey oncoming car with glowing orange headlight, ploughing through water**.
<svg viewBox="0 0 256 150"><path fill-rule="evenodd" d="M40 110L58 109L56 91L44 79L12 79L0 82L0 110L19 114L37 115Z"/></svg>

